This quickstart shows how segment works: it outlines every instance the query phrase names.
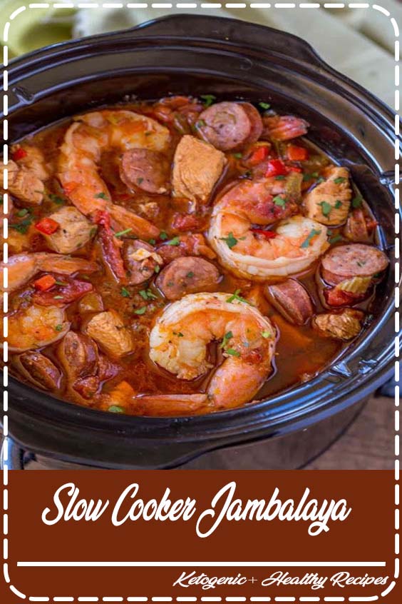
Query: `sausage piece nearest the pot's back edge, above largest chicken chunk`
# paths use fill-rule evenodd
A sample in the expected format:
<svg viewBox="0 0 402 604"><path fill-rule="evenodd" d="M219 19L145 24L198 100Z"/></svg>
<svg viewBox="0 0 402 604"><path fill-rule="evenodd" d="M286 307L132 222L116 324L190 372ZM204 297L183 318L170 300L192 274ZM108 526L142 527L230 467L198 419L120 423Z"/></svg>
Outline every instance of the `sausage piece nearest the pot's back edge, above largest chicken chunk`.
<svg viewBox="0 0 402 604"><path fill-rule="evenodd" d="M261 121L261 129L255 114ZM220 151L230 151L246 143L253 143L262 133L262 120L258 111L248 103L223 101L211 105L202 111L197 124L202 138Z"/></svg>

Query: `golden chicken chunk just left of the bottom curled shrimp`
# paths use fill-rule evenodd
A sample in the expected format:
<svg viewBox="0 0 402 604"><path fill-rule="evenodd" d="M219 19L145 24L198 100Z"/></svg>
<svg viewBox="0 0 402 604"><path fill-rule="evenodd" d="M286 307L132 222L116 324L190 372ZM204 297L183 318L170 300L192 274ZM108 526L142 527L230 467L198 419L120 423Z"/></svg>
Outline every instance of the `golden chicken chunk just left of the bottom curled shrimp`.
<svg viewBox="0 0 402 604"><path fill-rule="evenodd" d="M134 350L133 334L116 311L104 311L93 316L86 326L86 332L113 358Z"/></svg>

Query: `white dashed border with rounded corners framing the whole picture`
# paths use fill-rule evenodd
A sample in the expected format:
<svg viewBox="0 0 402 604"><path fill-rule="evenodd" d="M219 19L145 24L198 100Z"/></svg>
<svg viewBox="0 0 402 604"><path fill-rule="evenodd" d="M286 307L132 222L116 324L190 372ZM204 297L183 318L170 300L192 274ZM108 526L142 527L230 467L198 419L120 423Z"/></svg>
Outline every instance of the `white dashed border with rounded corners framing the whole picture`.
<svg viewBox="0 0 402 604"><path fill-rule="evenodd" d="M3 131L3 139L4 139L4 163L5 165L7 165L8 161L9 161L9 133L8 133L8 120L6 118L6 116L8 116L8 109L9 109L9 105L8 105L8 64L9 64L9 54L8 54L8 46L7 46L7 42L9 41L9 29L10 29L10 25L11 25L11 21L14 21L14 19L16 19L16 17L21 14L22 12L26 11L26 9L49 9L49 8L53 8L53 9L73 9L73 8L82 8L82 9L122 9L122 8L128 8L128 9L148 9L148 8L153 8L153 9L172 9L173 7L177 8L177 9L221 9L223 8L227 8L227 9L244 9L247 7L247 4L242 2L232 2L232 3L212 3L212 2L205 2L205 3L198 3L198 2L194 2L194 3L175 3L175 4L170 4L170 3L165 3L165 2L161 2L161 3L133 3L133 2L128 2L128 3L123 3L123 2L70 2L70 3L48 3L48 2L38 2L38 3L32 3L32 4L28 4L28 5L24 5L24 6L20 6L19 9L16 9L10 16L9 16L9 21L6 22L5 26L4 26L4 33L3 33L3 41L4 41L4 131ZM88 597L88 596L81 596L78 598L75 598L73 596L55 596L54 598L49 598L48 596L28 596L25 593L21 593L21 591L19 591L15 585L13 585L11 583L10 577L9 577L9 563L8 563L8 558L9 558L9 538L8 538L8 534L9 534L9 529L8 529L8 520L9 520L9 515L8 515L8 510L9 510L9 489L8 489L8 484L9 484L9 474L8 474L8 439L9 439L9 425L8 425L8 416L7 416L7 412L8 412L8 392L6 390L6 388L8 387L8 367L5 366L4 367L4 399L3 399L3 433L4 433L4 469L3 469L3 485L4 485L4 489L3 489L3 560L4 560L4 565L3 565L3 573L4 573L4 579L6 580L6 583L8 583L9 585L9 589L15 594L17 595L19 598L21 598L21 600L29 600L30 602L222 602L222 601L226 601L226 602L345 602L346 600L348 600L349 602L373 602L375 600L379 600L379 598L384 598L386 595L388 595L388 593L391 592L391 590L393 590L393 588L396 585L396 579L398 579L399 577L399 460L398 460L398 456L399 456L399 287L398 287L398 283L399 283L399 279L400 279L400 263L399 263L399 239L398 239L398 233L399 233L399 188L398 188L398 183L399 183L399 166L398 166L398 159L399 159L399 153L400 153L400 149L399 149L399 141L398 141L398 136L399 136L399 117L397 112L399 111L399 65L398 65L398 61L399 61L399 29L398 29L398 24L396 22L396 19L394 19L391 14L389 13L389 11L387 11L386 9L383 8L383 6L378 6L378 4L368 4L368 3L351 3L351 4L344 4L341 2L327 2L324 4L306 4L306 3L276 3L276 4L267 4L267 3L249 3L249 7L251 9L319 9L319 8L324 8L324 9L344 9L349 8L349 9L373 9L374 11L378 11L380 13L382 13L383 15L385 15L386 17L388 17L389 21L391 21L391 25L393 27L393 32L395 34L395 46L394 46L394 53L395 53L395 74L394 74L394 81L395 81L395 101L394 101L394 109L396 112L396 116L395 116L395 129L394 129L394 134L395 134L395 183L396 183L396 189L395 189L395 234L396 234L396 238L395 238L395 258L396 258L396 263L395 263L395 283L396 283L396 288L395 288L395 332L396 332L396 336L395 336L395 380L396 380L396 387L395 387L395 427L394 427L394 431L395 431L395 485L394 485L394 497L395 497L395 510L394 510L394 518L395 518L395 535L394 535L394 555L395 555L395 560L394 560L394 572L393 572L393 580L391 580L391 583L389 583L389 585L387 585L387 587L383 590L383 592L380 595L371 595L371 596L366 596L366 597L353 597L350 596L349 598L343 598L343 597L324 597L324 598L319 598L318 596L304 596L304 597L292 597L292 596L278 596L277 598L269 598L269 597L255 597L255 598L245 598L244 596L238 596L238 597L228 597L228 598L219 598L219 597L213 597L213 598L196 598L196 597L177 597L177 598L172 598L170 596L155 596L153 598L145 598L142 596L132 596L132 597L123 597L123 596L104 596L104 597L98 597L98 596L93 596L93 597ZM4 168L4 189L7 190L8 188L8 170L7 168ZM4 194L4 214L6 215L8 213L8 194L5 193ZM7 234L8 234L8 220L7 218L4 218L4 238L7 239ZM8 244L4 243L4 262L7 263L8 261ZM8 270L7 268L4 268L4 288L7 288L8 285ZM4 293L4 312L7 312L8 309L8 293L5 292ZM4 338L7 337L8 335L8 324L7 324L7 318L4 318ZM4 363L7 363L8 361L8 348L7 348L7 342L4 341L4 352L3 352L3 356L4 356Z"/></svg>

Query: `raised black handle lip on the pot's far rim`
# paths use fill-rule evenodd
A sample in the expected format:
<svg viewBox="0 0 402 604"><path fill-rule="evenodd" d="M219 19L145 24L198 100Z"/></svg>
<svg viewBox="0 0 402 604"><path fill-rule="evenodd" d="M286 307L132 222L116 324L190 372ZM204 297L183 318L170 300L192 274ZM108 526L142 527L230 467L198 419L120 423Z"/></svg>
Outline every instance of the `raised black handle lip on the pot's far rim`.
<svg viewBox="0 0 402 604"><path fill-rule="evenodd" d="M164 36L167 38L178 37L180 39L210 39L216 40L222 48L222 42L227 44L240 44L247 49L259 51L272 51L288 56L297 61L308 62L317 67L330 69L324 61L316 54L316 51L304 40L279 29L261 26L238 19L227 19L226 17L215 17L207 15L169 15L145 21L127 34L138 38L146 30L147 36ZM120 33L121 36L121 33Z"/></svg>

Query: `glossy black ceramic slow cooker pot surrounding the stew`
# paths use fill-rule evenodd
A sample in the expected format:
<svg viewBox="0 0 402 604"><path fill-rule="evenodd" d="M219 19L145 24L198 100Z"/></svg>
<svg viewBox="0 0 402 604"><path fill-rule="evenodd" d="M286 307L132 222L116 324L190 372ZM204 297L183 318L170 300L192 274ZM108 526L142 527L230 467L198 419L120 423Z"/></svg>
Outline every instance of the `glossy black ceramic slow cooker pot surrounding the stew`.
<svg viewBox="0 0 402 604"><path fill-rule="evenodd" d="M309 138L350 168L392 260L393 112L282 31L234 19L168 16L36 51L9 66L10 141L125 96L170 93L269 100L307 119ZM378 318L368 331L319 376L267 401L208 416L122 417L63 403L10 379L9 431L29 451L108 468L170 468L207 451L279 436L278 446L286 448L291 435L293 442L301 438L298 431L304 440L314 433L322 439L321 428L314 428L321 421L333 426L329 441L391 376L392 268L380 287ZM311 437L311 454L314 446Z"/></svg>

